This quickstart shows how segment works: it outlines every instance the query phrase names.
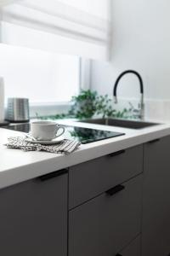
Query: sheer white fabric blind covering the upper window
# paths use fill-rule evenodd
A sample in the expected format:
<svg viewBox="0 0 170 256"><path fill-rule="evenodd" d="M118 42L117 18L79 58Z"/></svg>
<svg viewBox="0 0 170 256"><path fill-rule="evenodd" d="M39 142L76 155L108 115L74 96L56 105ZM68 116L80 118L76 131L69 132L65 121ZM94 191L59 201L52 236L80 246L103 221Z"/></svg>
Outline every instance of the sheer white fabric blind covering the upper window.
<svg viewBox="0 0 170 256"><path fill-rule="evenodd" d="M1 42L107 60L110 4L111 0L18 0L1 9Z"/></svg>

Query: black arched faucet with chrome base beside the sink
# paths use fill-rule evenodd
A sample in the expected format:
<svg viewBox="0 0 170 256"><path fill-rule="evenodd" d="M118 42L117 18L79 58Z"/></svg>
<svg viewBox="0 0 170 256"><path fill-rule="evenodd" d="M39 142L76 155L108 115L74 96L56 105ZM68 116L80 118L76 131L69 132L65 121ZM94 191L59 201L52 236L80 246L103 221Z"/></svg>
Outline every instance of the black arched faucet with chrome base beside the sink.
<svg viewBox="0 0 170 256"><path fill-rule="evenodd" d="M144 84L143 84L143 80L138 72L136 72L134 70L126 70L118 76L118 78L116 79L115 85L114 85L114 89L113 89L113 96L115 99L115 103L117 103L117 96L116 96L117 86L118 86L120 80L122 79L122 77L127 73L133 73L139 79L141 99L140 99L140 103L139 103L139 111L138 112L139 112L139 119L143 119L143 117L144 117ZM135 111L137 112L136 109L135 109Z"/></svg>

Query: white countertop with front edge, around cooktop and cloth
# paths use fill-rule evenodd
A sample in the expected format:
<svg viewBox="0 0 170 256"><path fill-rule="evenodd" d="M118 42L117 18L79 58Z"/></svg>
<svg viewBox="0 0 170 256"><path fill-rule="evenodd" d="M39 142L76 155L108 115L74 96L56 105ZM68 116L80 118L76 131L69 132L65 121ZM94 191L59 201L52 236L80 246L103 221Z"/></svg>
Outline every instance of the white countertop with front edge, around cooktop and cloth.
<svg viewBox="0 0 170 256"><path fill-rule="evenodd" d="M140 130L116 126L91 125L66 120L63 120L61 123L105 131L124 132L126 135L96 143L84 144L73 154L62 155L46 152L23 152L19 149L6 148L4 143L7 143L7 138L20 136L21 133L0 128L0 189L49 172L74 166L105 154L111 154L123 148L130 148L170 135L170 123L150 126Z"/></svg>

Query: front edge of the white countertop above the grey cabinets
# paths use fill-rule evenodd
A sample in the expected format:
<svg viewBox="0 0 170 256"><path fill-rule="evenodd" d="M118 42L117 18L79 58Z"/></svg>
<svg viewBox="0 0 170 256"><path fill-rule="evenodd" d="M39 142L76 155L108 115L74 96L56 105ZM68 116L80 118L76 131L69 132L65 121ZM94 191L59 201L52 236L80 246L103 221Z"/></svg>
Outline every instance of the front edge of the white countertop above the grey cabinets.
<svg viewBox="0 0 170 256"><path fill-rule="evenodd" d="M115 140L107 139L105 143L94 143L93 147L81 148L70 155L54 155L54 157L46 160L6 169L4 171L1 170L0 189L168 135L170 135L170 125L158 125L154 131L152 129L146 129L139 133L136 132L134 135L118 137Z"/></svg>

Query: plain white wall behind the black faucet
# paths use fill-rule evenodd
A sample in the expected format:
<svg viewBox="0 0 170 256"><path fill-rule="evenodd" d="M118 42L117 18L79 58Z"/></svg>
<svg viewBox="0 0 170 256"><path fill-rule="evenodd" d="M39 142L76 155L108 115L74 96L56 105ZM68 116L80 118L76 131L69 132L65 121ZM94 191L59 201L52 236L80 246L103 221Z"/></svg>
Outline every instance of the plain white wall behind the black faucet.
<svg viewBox="0 0 170 256"><path fill-rule="evenodd" d="M169 101L170 1L112 0L112 26L111 63L93 61L92 88L112 95L118 74L130 68L141 73L145 98ZM118 96L139 96L133 75L122 79Z"/></svg>

